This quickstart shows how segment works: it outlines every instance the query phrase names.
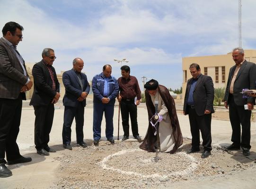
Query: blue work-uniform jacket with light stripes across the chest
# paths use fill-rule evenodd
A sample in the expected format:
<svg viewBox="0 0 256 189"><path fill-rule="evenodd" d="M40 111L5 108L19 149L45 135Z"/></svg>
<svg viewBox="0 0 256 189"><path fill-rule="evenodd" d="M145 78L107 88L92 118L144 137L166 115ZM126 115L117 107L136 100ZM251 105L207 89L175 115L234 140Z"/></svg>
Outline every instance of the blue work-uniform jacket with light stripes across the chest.
<svg viewBox="0 0 256 189"><path fill-rule="evenodd" d="M105 84L105 80L104 80L103 72L93 77L92 79L93 103L102 103L101 99L104 97L103 96L104 84ZM118 91L119 91L119 86L118 86L117 79L113 76L110 76L109 96L107 96L107 98L110 99L108 103L109 105L115 104L115 98L118 94Z"/></svg>

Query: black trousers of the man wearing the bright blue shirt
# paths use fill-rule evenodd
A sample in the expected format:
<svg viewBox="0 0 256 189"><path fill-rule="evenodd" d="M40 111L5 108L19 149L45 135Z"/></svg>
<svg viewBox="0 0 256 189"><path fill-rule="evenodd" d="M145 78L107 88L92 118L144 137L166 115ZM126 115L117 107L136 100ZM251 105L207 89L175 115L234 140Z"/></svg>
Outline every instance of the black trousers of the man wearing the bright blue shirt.
<svg viewBox="0 0 256 189"><path fill-rule="evenodd" d="M211 134L211 121L212 114L204 114L203 116L198 116L195 109L189 107L188 117L190 123L190 131L192 135L192 148L196 149L200 146L200 132L203 139L204 150L212 150L212 134Z"/></svg>

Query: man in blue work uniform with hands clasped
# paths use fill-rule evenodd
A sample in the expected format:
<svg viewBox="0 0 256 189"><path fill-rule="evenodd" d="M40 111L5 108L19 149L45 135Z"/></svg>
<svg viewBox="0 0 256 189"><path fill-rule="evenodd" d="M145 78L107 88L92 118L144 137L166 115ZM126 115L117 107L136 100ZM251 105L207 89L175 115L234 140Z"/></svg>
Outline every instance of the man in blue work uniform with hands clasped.
<svg viewBox="0 0 256 189"><path fill-rule="evenodd" d="M98 146L101 138L101 121L103 112L106 119L106 138L114 144L113 138L113 116L115 98L118 94L119 87L115 77L111 76L112 67L109 64L103 66L103 72L97 74L92 79L93 91L93 144Z"/></svg>

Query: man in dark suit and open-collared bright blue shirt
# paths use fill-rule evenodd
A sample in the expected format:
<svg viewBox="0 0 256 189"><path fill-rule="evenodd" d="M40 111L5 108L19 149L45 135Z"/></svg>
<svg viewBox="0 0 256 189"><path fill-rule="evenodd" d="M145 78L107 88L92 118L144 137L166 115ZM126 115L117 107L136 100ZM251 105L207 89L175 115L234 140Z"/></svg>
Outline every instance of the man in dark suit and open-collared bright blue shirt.
<svg viewBox="0 0 256 189"><path fill-rule="evenodd" d="M192 147L187 153L200 151L199 130L201 130L204 148L201 157L206 158L211 155L212 150L211 121L214 112L214 88L212 78L201 74L198 64L191 64L189 69L192 78L187 81L183 108L184 115L188 114L192 135Z"/></svg>

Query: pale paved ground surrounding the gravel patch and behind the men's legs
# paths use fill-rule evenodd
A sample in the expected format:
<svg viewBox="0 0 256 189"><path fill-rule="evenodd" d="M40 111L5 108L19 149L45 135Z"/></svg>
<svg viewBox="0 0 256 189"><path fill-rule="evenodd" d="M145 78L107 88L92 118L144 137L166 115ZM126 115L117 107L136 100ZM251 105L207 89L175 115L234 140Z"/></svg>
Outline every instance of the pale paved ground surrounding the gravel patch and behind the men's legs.
<svg viewBox="0 0 256 189"><path fill-rule="evenodd" d="M92 120L93 120L93 108L92 101L88 99L88 106L85 110L85 126L84 136L87 141L92 141ZM25 102L27 103L27 102ZM58 108L60 107L60 108ZM177 105L177 109L182 109L181 105ZM63 108L61 104L55 110L53 129L50 135L49 146L57 150L63 150L62 148L62 124L63 124ZM145 136L148 127L148 115L145 104L142 104L138 108L138 124L139 133L142 137ZM190 126L188 116L178 114L178 119L182 129L183 137L191 137ZM48 189L55 178L55 170L58 169L59 163L54 160L57 153L53 153L50 156L41 156L35 153L34 147L34 121L35 115L32 107L25 107L22 111L20 132L18 135L18 145L22 155L31 156L33 161L31 163L10 165L9 168L13 172L13 176L0 179L0 189ZM72 140L75 143L75 123L72 125ZM118 106L115 107L114 115L114 136L117 138L117 126L118 126ZM252 123L251 129L251 155L248 158L256 158L256 123ZM105 120L102 121L102 131L105 130ZM123 135L122 126L120 122L120 136ZM132 136L131 136L132 137ZM212 143L215 147L225 146L230 144L231 126L229 120L212 120ZM102 139L106 140L104 132L102 132ZM118 145L118 144L116 144ZM54 155L55 154L55 155ZM244 157L244 159L247 159ZM248 159L247 159L248 160ZM255 171L247 170L237 175L232 175L228 178L218 178L216 180L205 181L186 181L174 184L178 189L213 189L218 186L220 189L232 188L241 189L246 186L247 189L255 189ZM168 188L164 187L164 188Z"/></svg>

